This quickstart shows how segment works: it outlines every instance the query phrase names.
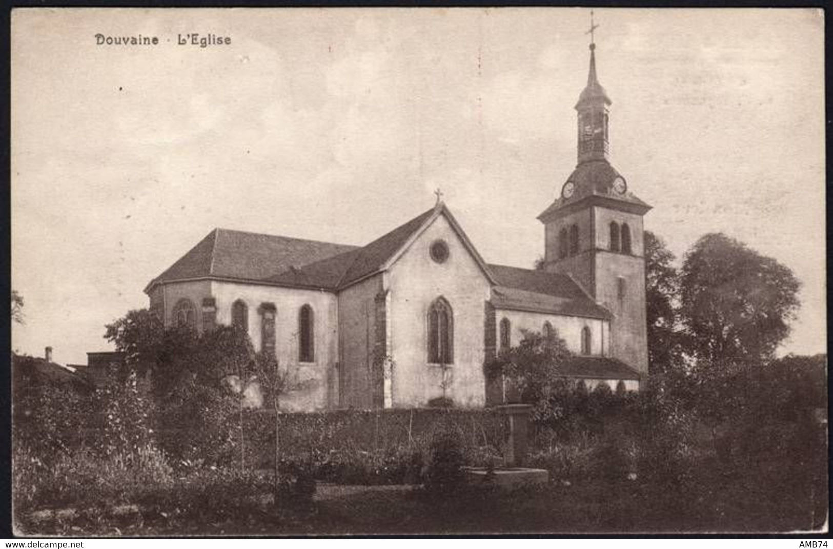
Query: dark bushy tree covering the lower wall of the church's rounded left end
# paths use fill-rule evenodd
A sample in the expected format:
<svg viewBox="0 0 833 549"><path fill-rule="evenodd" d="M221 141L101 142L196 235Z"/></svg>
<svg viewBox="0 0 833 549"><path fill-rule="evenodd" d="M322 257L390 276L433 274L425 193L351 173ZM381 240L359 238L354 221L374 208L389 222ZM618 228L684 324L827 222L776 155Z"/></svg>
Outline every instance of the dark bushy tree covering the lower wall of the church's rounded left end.
<svg viewBox="0 0 833 549"><path fill-rule="evenodd" d="M162 447L177 457L206 462L227 462L239 451L245 464L242 399L254 362L246 332L220 326L198 336L188 327L166 329L152 312L141 309L107 325L105 337L125 353L117 382L128 382L133 372L150 372Z"/></svg>

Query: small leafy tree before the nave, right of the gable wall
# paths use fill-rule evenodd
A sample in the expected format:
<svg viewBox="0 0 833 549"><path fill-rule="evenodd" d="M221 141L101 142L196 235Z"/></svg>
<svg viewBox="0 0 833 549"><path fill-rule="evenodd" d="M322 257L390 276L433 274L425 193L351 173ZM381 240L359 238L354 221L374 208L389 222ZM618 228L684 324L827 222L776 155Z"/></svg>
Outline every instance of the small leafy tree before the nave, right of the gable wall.
<svg viewBox="0 0 833 549"><path fill-rule="evenodd" d="M516 347L503 349L484 368L487 379L502 376L517 393L520 402L532 404L536 420L545 420L557 413L551 394L564 385L558 366L572 353L555 331L549 336L523 331L523 339Z"/></svg>

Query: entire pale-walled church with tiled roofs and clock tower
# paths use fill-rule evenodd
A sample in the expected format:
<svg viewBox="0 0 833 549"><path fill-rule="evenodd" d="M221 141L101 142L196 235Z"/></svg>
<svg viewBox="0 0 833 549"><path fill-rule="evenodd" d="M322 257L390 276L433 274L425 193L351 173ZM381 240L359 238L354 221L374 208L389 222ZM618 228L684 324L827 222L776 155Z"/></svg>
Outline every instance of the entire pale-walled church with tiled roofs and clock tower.
<svg viewBox="0 0 833 549"><path fill-rule="evenodd" d="M554 332L588 388L647 374L642 217L608 157L611 100L596 77L576 104L578 163L544 225L541 269L486 263L441 200L366 246L215 229L145 288L166 326L247 330L291 372L289 410L500 400L483 365L523 331Z"/></svg>

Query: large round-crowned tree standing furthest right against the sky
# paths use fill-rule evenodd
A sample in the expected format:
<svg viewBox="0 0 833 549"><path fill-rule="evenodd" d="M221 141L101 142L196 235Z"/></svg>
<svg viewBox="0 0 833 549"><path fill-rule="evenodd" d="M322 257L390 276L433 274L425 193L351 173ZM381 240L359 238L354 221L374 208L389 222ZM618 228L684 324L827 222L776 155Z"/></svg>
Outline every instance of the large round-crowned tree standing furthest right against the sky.
<svg viewBox="0 0 833 549"><path fill-rule="evenodd" d="M788 267L721 233L686 252L680 317L698 366L766 362L790 333L800 283Z"/></svg>

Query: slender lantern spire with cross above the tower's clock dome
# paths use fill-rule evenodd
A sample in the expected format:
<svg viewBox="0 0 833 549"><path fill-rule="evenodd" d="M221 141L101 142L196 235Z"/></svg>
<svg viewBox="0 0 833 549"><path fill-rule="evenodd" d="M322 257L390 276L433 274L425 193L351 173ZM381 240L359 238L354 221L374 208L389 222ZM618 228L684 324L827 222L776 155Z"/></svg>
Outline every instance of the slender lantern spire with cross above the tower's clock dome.
<svg viewBox="0 0 833 549"><path fill-rule="evenodd" d="M587 72L587 86L582 90L576 103L578 111L578 163L591 160L607 160L608 132L607 118L611 98L607 97L605 88L601 87L596 75L596 37L599 27L590 14L590 70Z"/></svg>

